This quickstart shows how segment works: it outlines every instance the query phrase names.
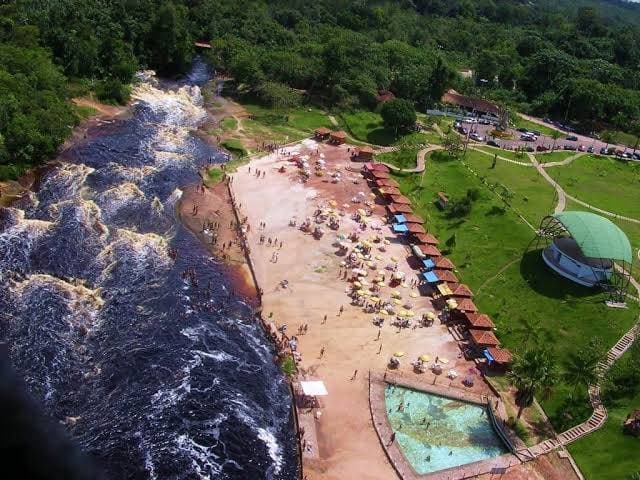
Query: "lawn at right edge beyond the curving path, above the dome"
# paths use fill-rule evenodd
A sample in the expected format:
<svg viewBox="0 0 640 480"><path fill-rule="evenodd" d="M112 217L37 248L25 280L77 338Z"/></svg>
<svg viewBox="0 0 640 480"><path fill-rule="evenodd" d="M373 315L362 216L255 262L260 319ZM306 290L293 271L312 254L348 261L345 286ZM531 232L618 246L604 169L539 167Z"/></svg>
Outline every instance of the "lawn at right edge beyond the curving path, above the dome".
<svg viewBox="0 0 640 480"><path fill-rule="evenodd" d="M640 219L640 163L584 155L553 170L564 190L603 210Z"/></svg>

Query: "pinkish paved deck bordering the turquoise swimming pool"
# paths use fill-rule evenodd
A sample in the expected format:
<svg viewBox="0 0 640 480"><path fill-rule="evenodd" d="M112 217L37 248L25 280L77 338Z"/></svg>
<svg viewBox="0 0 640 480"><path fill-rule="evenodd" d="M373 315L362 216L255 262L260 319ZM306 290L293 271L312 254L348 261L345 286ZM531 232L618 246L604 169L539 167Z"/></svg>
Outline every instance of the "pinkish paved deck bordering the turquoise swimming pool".
<svg viewBox="0 0 640 480"><path fill-rule="evenodd" d="M430 385L427 382L422 382L415 378L406 378L402 375L390 372L387 372L384 375L371 373L369 375L369 407L371 409L373 424L378 432L380 445L386 452L387 457L389 457L389 461L393 465L393 468L403 480L454 480L472 478L484 474L504 473L508 468L522 463L518 457L508 453L500 455L499 457L460 465L458 467L447 468L437 472L425 474L417 473L405 457L398 443L389 443L393 429L391 428L386 412L385 386L387 384L411 388L413 390L432 393L477 405L485 405L488 408L491 408L491 404L489 402L492 402L495 399L489 398L486 395L478 395L473 392L460 390L459 388L435 384ZM500 409L498 409L498 413L499 411ZM513 447L509 446L509 448Z"/></svg>

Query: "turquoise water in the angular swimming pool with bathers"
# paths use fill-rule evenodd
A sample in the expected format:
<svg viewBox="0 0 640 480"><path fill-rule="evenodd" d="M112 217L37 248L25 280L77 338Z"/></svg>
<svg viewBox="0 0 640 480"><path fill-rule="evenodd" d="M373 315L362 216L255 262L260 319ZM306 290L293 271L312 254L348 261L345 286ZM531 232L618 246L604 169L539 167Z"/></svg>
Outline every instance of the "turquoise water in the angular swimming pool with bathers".
<svg viewBox="0 0 640 480"><path fill-rule="evenodd" d="M396 442L419 474L508 452L483 406L392 385L385 404Z"/></svg>

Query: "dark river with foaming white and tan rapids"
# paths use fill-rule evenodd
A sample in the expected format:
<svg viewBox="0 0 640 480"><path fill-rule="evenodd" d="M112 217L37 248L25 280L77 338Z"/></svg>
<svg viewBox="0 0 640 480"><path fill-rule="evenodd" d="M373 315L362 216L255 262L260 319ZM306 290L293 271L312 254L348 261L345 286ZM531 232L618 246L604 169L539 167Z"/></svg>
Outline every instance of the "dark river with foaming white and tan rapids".
<svg viewBox="0 0 640 480"><path fill-rule="evenodd" d="M193 134L209 79L199 62L180 82L146 76L130 117L93 128L0 209L0 342L107 478L296 476L272 347L175 213L199 167L226 158Z"/></svg>

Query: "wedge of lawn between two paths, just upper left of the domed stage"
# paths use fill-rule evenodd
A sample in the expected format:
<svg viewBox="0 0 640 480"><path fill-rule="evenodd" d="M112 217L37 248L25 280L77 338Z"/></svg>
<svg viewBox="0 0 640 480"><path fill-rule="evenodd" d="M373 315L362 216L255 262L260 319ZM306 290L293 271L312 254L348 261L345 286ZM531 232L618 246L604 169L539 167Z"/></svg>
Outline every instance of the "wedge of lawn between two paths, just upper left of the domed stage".
<svg viewBox="0 0 640 480"><path fill-rule="evenodd" d="M555 190L535 168L498 160L492 169L493 158L473 150L467 152L466 162L532 225L537 227L553 211Z"/></svg>

